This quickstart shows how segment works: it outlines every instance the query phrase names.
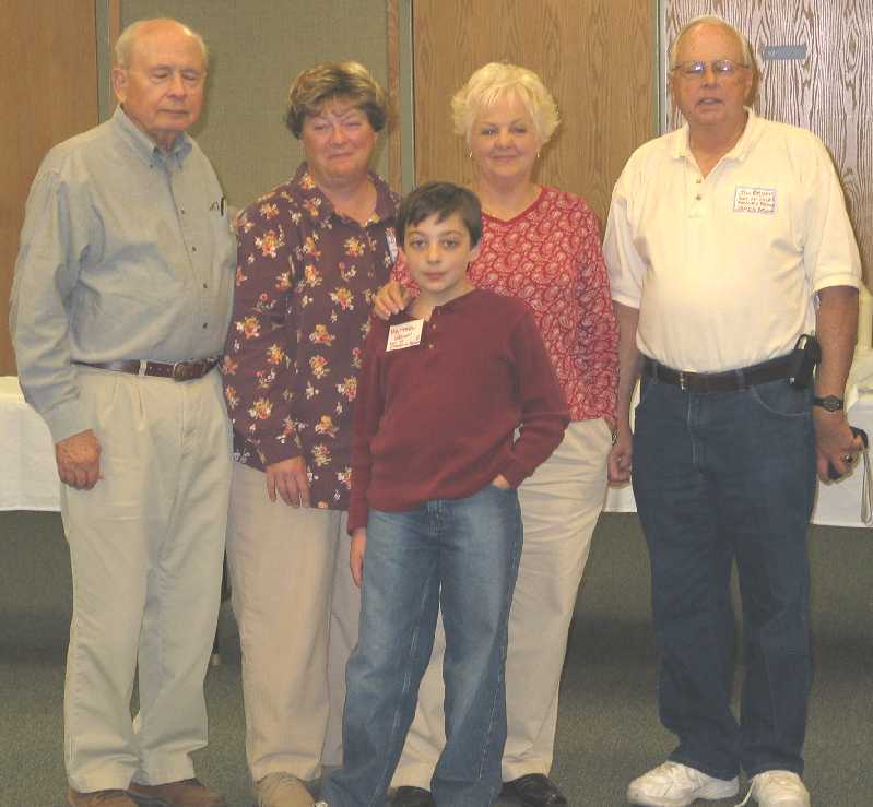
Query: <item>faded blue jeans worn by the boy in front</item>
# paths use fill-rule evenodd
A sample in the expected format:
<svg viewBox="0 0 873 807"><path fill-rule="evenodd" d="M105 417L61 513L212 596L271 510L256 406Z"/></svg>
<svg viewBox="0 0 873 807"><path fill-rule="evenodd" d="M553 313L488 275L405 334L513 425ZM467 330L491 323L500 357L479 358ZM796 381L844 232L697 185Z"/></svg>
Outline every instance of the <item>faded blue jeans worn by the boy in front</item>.
<svg viewBox="0 0 873 807"><path fill-rule="evenodd" d="M506 741L507 624L521 554L515 490L409 512L370 511L358 643L346 667L343 767L330 807L381 805L415 713L437 613L446 630L446 746L434 799L486 807L500 790Z"/></svg>

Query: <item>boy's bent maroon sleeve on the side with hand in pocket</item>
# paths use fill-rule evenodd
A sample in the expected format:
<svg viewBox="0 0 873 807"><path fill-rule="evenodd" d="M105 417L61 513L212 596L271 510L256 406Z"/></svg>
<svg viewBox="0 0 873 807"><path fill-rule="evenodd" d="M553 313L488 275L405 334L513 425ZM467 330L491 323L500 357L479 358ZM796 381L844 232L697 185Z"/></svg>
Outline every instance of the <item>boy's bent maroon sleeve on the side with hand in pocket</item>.
<svg viewBox="0 0 873 807"><path fill-rule="evenodd" d="M510 348L516 359L521 426L511 460L500 474L509 485L518 487L558 447L570 417L552 359L530 311L512 329Z"/></svg>

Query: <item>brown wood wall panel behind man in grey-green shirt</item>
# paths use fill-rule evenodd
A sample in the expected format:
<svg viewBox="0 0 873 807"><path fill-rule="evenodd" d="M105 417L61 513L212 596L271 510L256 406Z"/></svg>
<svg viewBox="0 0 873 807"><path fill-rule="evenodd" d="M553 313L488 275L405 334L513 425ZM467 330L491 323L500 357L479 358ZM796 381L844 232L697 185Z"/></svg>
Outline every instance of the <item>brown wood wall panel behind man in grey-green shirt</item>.
<svg viewBox="0 0 873 807"><path fill-rule="evenodd" d="M97 122L93 2L0 3L0 376L15 375L9 293L24 203L45 153Z"/></svg>

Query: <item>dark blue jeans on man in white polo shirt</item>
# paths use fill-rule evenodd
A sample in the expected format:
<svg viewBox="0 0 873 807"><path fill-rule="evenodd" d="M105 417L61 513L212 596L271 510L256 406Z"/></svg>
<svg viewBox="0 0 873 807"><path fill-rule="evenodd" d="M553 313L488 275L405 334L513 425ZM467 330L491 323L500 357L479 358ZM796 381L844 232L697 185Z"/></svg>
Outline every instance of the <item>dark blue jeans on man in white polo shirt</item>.
<svg viewBox="0 0 873 807"><path fill-rule="evenodd" d="M806 538L815 496L810 390L772 381L689 393L644 380L634 494L649 545L671 759L719 779L802 773L812 678ZM731 565L743 609L731 712Z"/></svg>

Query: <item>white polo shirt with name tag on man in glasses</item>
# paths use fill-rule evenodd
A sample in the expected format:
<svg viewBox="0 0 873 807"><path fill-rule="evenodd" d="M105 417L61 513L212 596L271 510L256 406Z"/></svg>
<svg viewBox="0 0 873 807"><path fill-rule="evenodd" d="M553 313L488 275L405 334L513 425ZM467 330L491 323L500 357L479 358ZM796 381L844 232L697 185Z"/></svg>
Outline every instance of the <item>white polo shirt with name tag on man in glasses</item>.
<svg viewBox="0 0 873 807"><path fill-rule="evenodd" d="M815 327L816 292L861 282L824 144L752 110L707 177L687 126L640 146L615 185L603 251L613 299L639 309L639 349L696 372L789 353Z"/></svg>

